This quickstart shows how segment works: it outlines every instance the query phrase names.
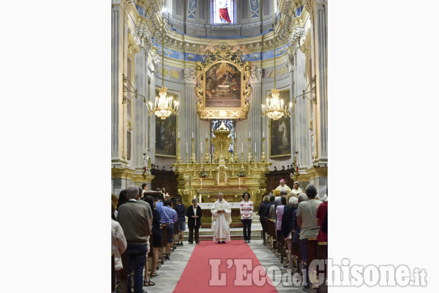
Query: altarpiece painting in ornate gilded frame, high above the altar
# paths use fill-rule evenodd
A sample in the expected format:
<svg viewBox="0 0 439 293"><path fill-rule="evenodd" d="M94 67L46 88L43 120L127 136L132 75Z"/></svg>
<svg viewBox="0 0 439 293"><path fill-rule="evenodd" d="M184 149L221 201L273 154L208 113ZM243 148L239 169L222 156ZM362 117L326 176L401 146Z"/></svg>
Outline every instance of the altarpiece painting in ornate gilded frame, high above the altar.
<svg viewBox="0 0 439 293"><path fill-rule="evenodd" d="M247 119L252 66L241 55L233 46L220 45L206 51L204 62L196 62L196 112L201 119Z"/></svg>

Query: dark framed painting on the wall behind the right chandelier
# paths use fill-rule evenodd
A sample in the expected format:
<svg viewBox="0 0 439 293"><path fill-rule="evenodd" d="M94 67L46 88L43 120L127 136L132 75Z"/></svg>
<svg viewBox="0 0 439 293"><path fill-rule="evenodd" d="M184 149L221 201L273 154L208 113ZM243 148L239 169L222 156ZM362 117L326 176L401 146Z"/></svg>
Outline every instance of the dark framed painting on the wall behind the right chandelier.
<svg viewBox="0 0 439 293"><path fill-rule="evenodd" d="M265 96L270 97L270 91ZM290 90L282 90L279 99L283 99L284 103L290 101ZM282 117L279 120L269 119L270 128L270 158L279 156L291 156L291 133L290 133L290 117Z"/></svg>

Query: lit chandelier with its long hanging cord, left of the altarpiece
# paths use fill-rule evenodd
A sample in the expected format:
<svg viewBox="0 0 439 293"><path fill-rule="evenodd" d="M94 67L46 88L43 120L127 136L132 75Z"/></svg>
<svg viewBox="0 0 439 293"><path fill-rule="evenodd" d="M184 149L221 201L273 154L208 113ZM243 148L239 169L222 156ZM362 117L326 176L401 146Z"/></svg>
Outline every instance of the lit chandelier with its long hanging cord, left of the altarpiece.
<svg viewBox="0 0 439 293"><path fill-rule="evenodd" d="M157 117L160 117L161 119L166 119L166 117L169 117L171 114L176 115L178 114L178 101L174 101L174 105L172 105L172 97L167 97L167 88L165 88L165 61L164 61L164 55L165 55L165 30L163 28L164 23L164 17L163 14L165 13L165 0L162 0L162 87L158 89L158 95L160 97L156 97L156 104L154 105L154 108L152 108L152 103L149 101L149 104L147 104L148 112L150 115L156 114Z"/></svg>

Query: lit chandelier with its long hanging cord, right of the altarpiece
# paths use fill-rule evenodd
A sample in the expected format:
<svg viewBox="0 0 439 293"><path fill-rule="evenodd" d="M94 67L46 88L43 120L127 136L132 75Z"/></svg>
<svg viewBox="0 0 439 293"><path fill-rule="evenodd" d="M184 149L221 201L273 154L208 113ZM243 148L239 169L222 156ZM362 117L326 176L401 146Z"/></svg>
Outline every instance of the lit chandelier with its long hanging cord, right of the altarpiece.
<svg viewBox="0 0 439 293"><path fill-rule="evenodd" d="M292 103L287 108L287 105L283 105L283 99L279 99L280 90L276 89L276 36L275 32L275 24L276 20L276 11L274 10L274 1L273 1L273 55L274 55L274 88L271 90L271 99L267 98L267 102L261 105L261 114L262 116L267 116L270 119L277 120L282 118L283 116L290 116L290 110Z"/></svg>

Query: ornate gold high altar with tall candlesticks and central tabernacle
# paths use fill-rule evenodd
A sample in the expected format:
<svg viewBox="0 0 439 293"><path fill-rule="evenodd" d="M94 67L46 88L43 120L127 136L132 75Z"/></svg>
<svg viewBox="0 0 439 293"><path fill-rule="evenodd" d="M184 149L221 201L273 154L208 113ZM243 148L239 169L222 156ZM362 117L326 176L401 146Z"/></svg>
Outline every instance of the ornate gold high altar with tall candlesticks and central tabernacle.
<svg viewBox="0 0 439 293"><path fill-rule="evenodd" d="M244 192L249 192L251 201L253 201L254 210L257 211L261 203L263 194L266 192L265 173L268 173L268 166L271 163L266 162L264 138L262 139L261 160L256 161L256 152L254 157L251 153L251 139L248 139L248 154L246 162L241 152L241 160L237 154L237 143L235 138L234 152L228 152L231 141L230 130L224 125L214 131L212 144L214 145L213 159L209 155L209 139L206 141L205 156L200 155L200 162L196 161L194 152L194 139L192 139L192 152L189 160L189 154L186 154L186 163L180 155L180 139L178 139L177 163L172 164L178 175L178 193L183 197L183 203L186 206L192 204L192 199L198 199L200 203L214 203L217 199L218 192L223 192L224 199L229 203L241 202L241 196ZM206 218L206 217L205 217ZM203 219L210 221L210 219ZM241 217L232 213L232 225L241 223Z"/></svg>

